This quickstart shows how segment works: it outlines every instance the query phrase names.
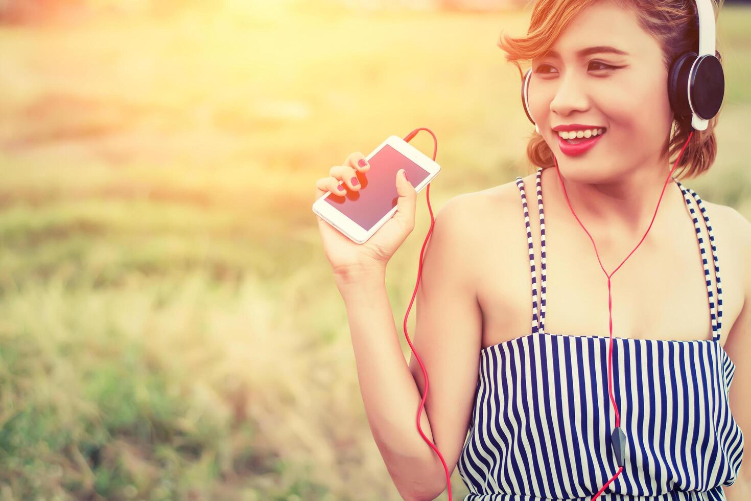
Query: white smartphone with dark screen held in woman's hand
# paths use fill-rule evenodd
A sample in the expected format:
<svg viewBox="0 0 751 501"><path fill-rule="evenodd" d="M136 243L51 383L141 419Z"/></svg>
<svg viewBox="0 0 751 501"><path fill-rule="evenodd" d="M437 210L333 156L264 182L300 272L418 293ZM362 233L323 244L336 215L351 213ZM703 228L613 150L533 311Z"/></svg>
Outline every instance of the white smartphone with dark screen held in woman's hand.
<svg viewBox="0 0 751 501"><path fill-rule="evenodd" d="M360 189L345 195L326 192L313 203L313 212L356 243L365 243L397 212L397 172L404 169L416 192L441 171L439 164L401 137L389 136L366 160L367 172L357 172Z"/></svg>

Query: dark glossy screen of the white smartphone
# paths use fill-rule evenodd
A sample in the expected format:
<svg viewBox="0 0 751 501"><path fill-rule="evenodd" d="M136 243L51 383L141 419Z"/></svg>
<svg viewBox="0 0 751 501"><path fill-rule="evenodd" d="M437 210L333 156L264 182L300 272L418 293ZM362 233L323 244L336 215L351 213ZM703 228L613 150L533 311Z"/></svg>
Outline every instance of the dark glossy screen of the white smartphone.
<svg viewBox="0 0 751 501"><path fill-rule="evenodd" d="M400 169L404 169L412 186L418 186L429 174L388 144L372 155L368 162L370 168L367 172L356 171L355 175L360 181L357 192L351 192L345 186L345 195L331 193L326 197L330 205L366 231L397 207L397 172Z"/></svg>

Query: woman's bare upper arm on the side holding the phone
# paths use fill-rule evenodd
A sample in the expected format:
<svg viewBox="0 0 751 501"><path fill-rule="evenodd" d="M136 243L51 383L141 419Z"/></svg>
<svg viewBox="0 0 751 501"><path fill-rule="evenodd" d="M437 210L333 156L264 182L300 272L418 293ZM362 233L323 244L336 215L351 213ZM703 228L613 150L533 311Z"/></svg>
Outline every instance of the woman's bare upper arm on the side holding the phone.
<svg viewBox="0 0 751 501"><path fill-rule="evenodd" d="M436 215L423 257L412 340L430 384L424 411L449 471L459 460L478 381L482 316L472 267L477 204L472 194L459 195ZM409 370L424 394L422 369L412 355Z"/></svg>

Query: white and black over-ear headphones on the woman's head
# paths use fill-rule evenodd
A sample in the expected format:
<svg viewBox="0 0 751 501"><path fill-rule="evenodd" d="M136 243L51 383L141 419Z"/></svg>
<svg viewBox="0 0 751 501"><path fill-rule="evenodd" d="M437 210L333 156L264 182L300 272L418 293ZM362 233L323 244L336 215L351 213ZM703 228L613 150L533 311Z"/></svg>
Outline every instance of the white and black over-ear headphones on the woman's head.
<svg viewBox="0 0 751 501"><path fill-rule="evenodd" d="M677 116L692 116L696 131L707 129L707 122L717 114L725 95L725 74L719 52L715 50L715 23L712 0L695 0L699 24L699 52L686 52L673 60L668 72L668 99ZM529 79L532 68L522 79L521 104L529 122L540 129L529 113Z"/></svg>

